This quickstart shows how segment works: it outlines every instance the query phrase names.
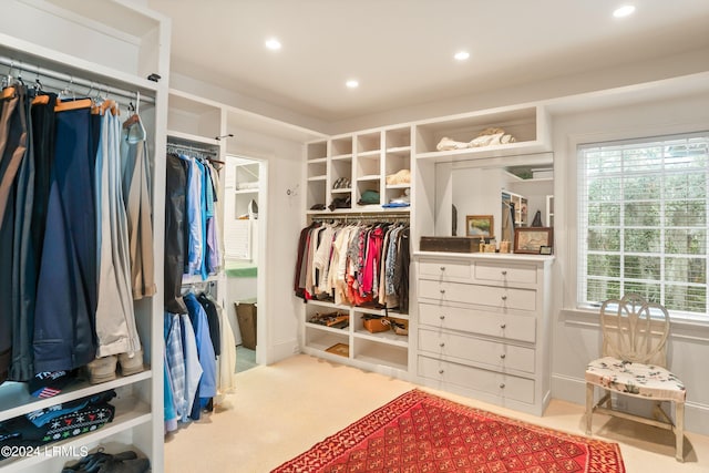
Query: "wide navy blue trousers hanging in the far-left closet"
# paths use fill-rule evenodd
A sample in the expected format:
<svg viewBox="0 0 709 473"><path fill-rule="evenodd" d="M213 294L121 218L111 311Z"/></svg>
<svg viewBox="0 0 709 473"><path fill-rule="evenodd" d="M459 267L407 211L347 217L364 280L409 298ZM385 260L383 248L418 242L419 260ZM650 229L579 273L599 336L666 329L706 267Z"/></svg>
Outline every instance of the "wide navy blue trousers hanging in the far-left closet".
<svg viewBox="0 0 709 473"><path fill-rule="evenodd" d="M47 233L37 289L34 370L95 358L96 223L91 109L56 113Z"/></svg>

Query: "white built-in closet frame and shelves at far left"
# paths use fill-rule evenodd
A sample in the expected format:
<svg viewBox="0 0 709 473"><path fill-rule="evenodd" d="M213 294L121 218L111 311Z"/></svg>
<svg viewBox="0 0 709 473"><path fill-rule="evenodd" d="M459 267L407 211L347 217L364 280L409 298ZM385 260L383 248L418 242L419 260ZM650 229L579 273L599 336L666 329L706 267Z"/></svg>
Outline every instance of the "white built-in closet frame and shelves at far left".
<svg viewBox="0 0 709 473"><path fill-rule="evenodd" d="M41 24L41 28L38 25ZM48 31L52 34L47 34ZM164 174L169 21L133 2L96 0L12 0L3 3L0 17L0 55L19 68L39 74L45 86L51 78L65 75L76 95L97 90L134 92L119 97L124 111L141 95L140 113L147 128L152 176ZM110 51L110 54L106 53ZM47 74L47 75L45 75ZM150 76L150 79L148 79ZM71 82L71 84L70 84ZM88 85L86 85L88 84ZM53 86L61 86L56 80ZM164 207L164 192L157 177L152 186L154 209ZM163 265L164 213L153 212L155 268ZM53 443L56 454L6 460L0 472L60 471L71 460L69 452L112 445L106 451L134 450L147 456L154 471L163 470L163 273L155 271L157 292L135 301L135 321L144 349L145 371L116 380L89 384L76 382L49 399L32 398L23 383L0 385L0 421L24 415L40 408L72 401L105 390L115 390L114 420L101 429ZM73 449L73 450L72 450Z"/></svg>

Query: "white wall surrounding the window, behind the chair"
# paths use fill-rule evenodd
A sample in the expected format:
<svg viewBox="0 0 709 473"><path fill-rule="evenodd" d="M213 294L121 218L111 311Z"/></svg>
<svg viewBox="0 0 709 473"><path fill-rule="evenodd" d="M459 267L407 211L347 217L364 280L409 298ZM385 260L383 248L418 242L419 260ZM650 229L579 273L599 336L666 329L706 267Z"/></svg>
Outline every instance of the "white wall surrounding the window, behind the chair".
<svg viewBox="0 0 709 473"><path fill-rule="evenodd" d="M709 94L553 117L555 156L552 395L584 403L586 363L599 356L597 313L576 310L576 145L709 130ZM668 368L687 388L686 429L709 434L709 326L674 322Z"/></svg>

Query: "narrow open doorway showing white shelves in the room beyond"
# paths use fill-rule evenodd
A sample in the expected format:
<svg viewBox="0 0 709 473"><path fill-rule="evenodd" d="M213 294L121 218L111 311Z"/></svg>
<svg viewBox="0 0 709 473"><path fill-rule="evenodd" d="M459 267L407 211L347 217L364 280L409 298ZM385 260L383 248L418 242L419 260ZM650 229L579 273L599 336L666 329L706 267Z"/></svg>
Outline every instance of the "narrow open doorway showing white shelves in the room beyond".
<svg viewBox="0 0 709 473"><path fill-rule="evenodd" d="M236 371L258 366L258 287L265 205L265 165L257 160L227 155L224 185L224 259L226 306L236 341Z"/></svg>

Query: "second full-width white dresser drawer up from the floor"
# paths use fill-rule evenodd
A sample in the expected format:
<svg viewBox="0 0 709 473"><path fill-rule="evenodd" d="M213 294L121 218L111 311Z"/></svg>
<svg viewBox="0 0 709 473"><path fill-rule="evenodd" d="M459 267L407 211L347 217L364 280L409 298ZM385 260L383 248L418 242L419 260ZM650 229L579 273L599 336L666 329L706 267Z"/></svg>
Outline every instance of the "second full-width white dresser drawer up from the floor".
<svg viewBox="0 0 709 473"><path fill-rule="evenodd" d="M513 369L534 373L534 349L532 348L419 329L419 350L489 364L494 370Z"/></svg>

